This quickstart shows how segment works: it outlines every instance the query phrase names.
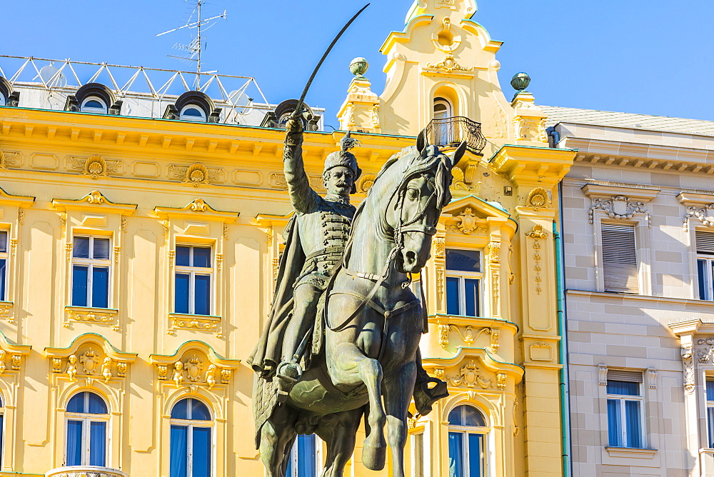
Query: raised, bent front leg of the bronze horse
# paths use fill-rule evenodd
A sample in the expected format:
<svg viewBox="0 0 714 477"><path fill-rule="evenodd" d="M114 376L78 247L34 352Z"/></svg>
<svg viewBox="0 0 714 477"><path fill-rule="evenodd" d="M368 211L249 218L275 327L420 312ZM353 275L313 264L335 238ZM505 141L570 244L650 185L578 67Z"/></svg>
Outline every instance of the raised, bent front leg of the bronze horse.
<svg viewBox="0 0 714 477"><path fill-rule="evenodd" d="M386 414L382 405L382 366L368 358L354 343L340 343L328 356L328 367L336 385L364 383L369 397L367 423L369 432L362 448L362 463L373 471L381 471L386 462L387 443L384 439Z"/></svg>

